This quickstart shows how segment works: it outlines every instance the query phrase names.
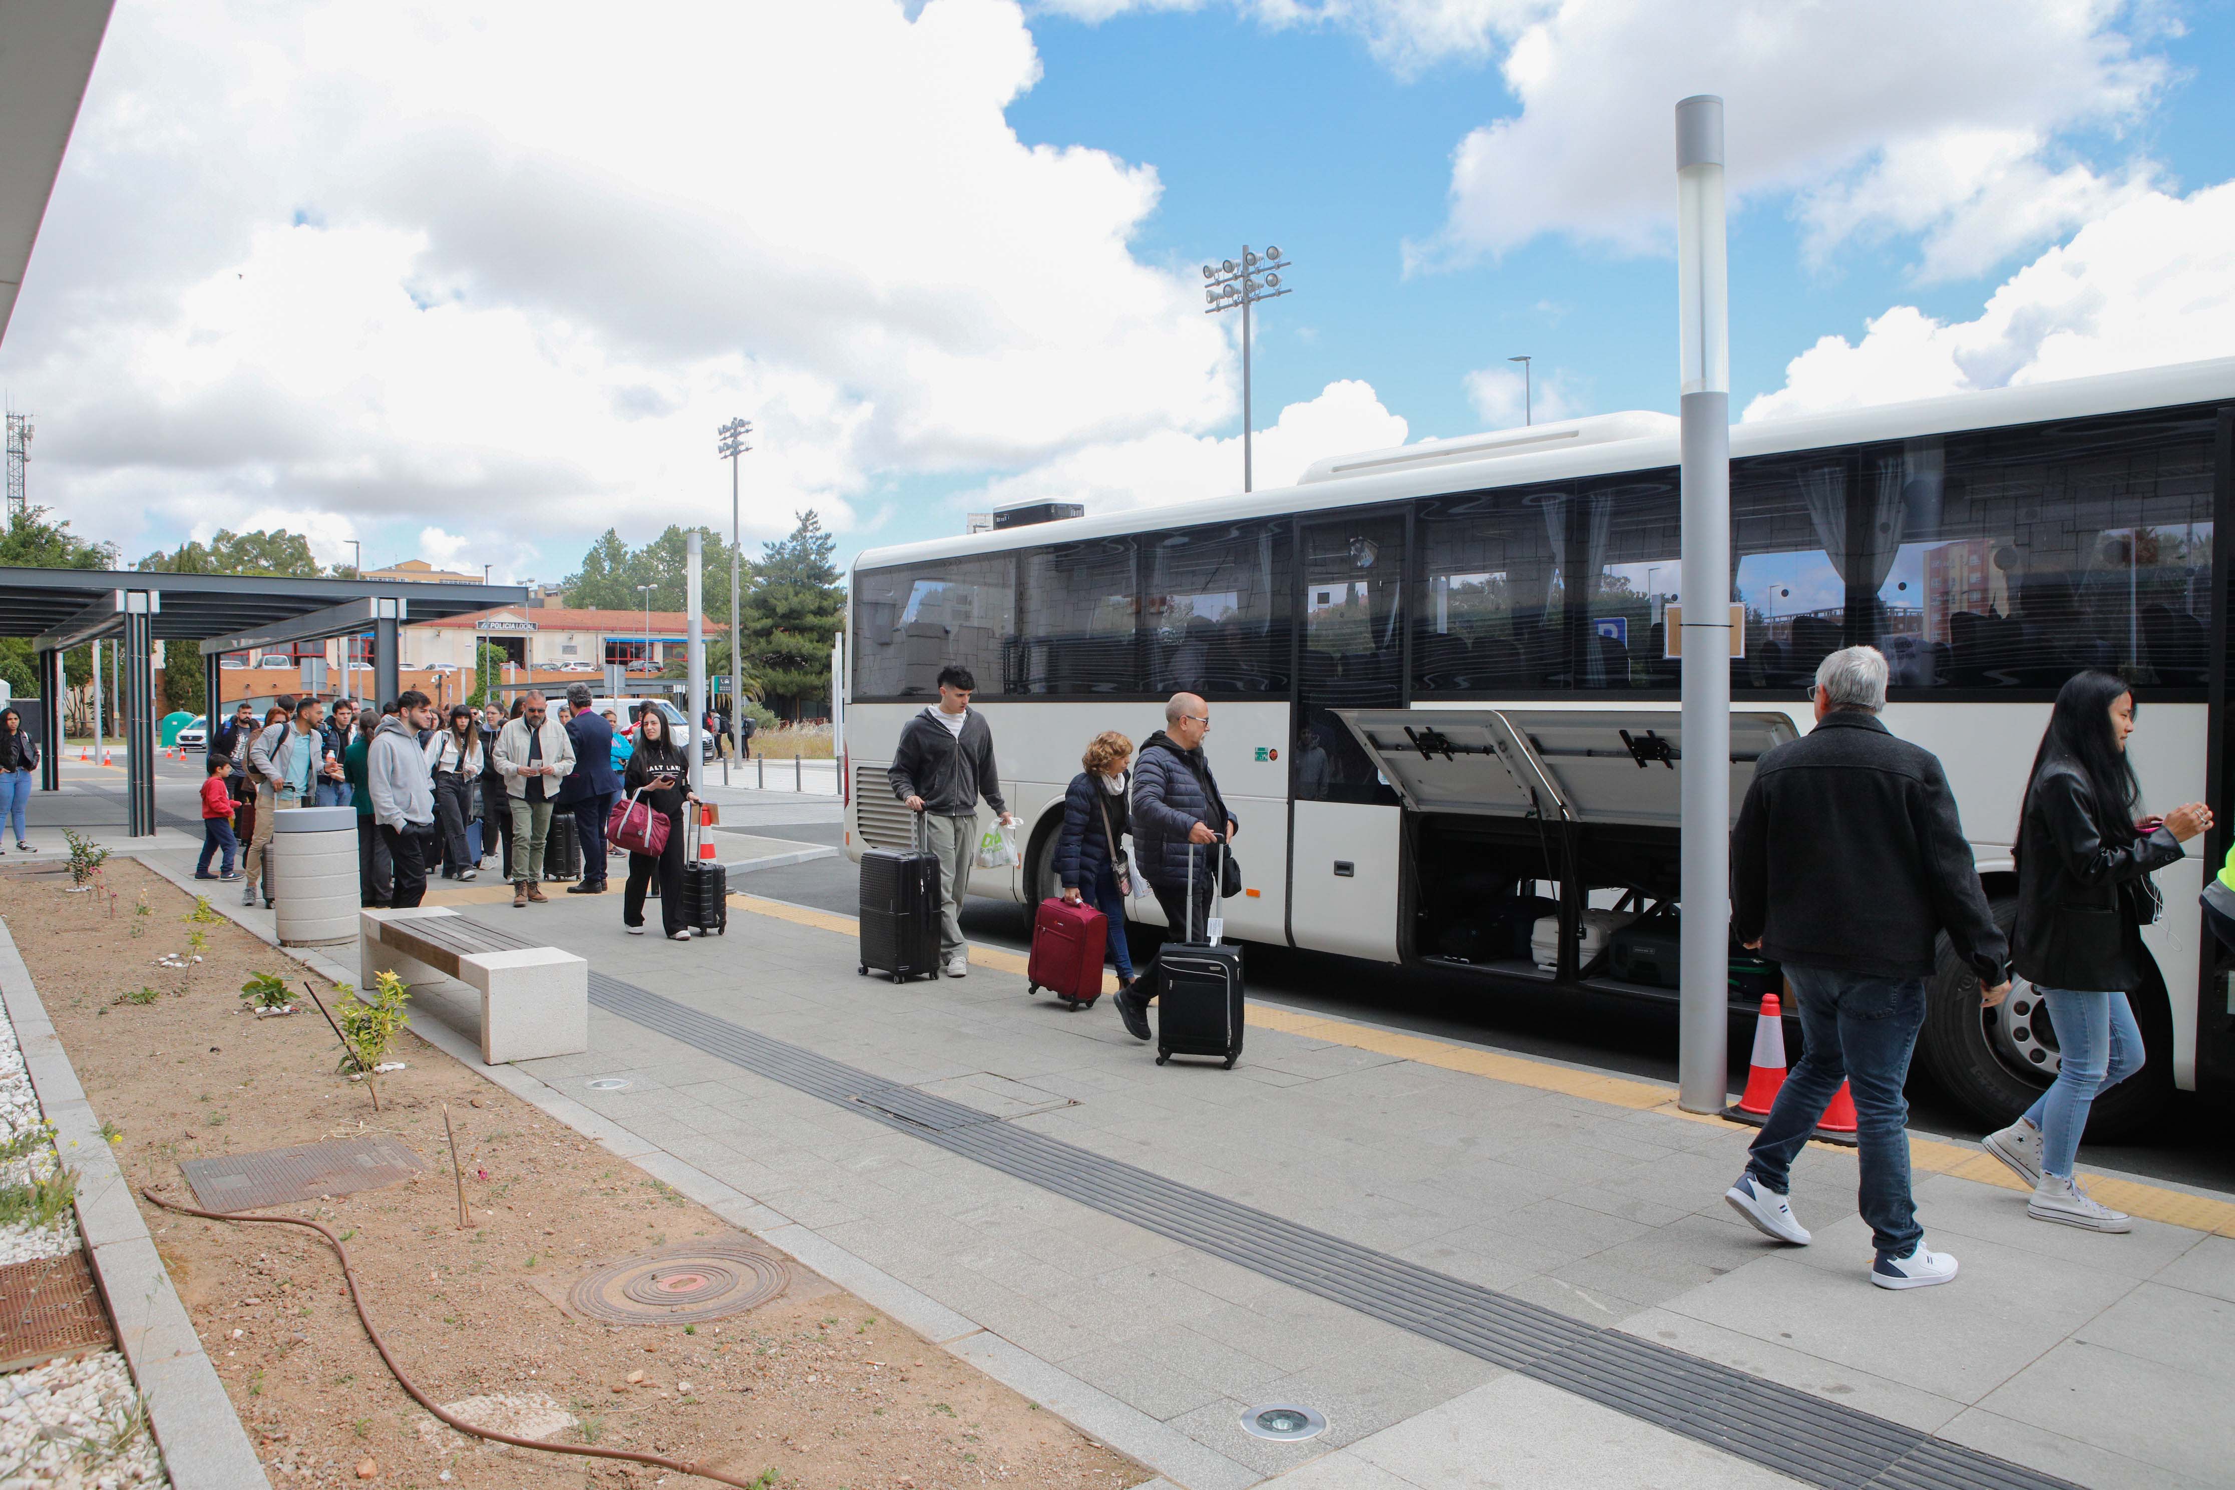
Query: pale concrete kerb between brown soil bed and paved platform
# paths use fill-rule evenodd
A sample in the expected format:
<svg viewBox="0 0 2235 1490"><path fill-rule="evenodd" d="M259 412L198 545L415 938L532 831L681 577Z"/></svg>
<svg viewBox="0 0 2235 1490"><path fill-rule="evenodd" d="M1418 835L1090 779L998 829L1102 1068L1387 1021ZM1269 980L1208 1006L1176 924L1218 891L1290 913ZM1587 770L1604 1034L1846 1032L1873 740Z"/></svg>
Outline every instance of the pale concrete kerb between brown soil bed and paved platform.
<svg viewBox="0 0 2235 1490"><path fill-rule="evenodd" d="M179 889L194 894L192 878L148 858L141 858L141 862ZM235 916L241 907L219 905L215 909L235 925L253 932L266 945L279 947L275 932ZM358 974L353 970L324 956L317 947L282 947L282 952L329 981L355 983ZM838 1287L849 1289L863 1302L883 1309L885 1318L907 1325L925 1340L961 1356L1001 1385L1039 1403L1088 1439L1149 1465L1160 1474L1160 1479L1149 1481L1140 1490L1243 1490L1245 1486L1254 1486L1265 1479L1258 1470L1196 1443L1180 1430L1155 1421L1147 1412L1140 1412L1138 1407L1122 1403L1084 1381L1077 1381L1062 1367L1033 1356L977 1320L948 1309L874 1262L867 1262L865 1258L858 1258L816 1231L793 1222L782 1211L753 1200L735 1186L729 1186L677 1159L675 1155L664 1153L657 1144L637 1137L628 1128L599 1117L539 1077L512 1066L483 1066L478 1045L458 1030L449 1028L445 1021L431 1016L413 1021L411 1032L478 1074L483 1081L512 1092L554 1121L561 1121L595 1142L617 1159L628 1159L653 1179L673 1186L677 1193L706 1206L729 1224L755 1233L760 1240L796 1258L802 1267L822 1273ZM192 1325L188 1325L188 1331L192 1334Z"/></svg>

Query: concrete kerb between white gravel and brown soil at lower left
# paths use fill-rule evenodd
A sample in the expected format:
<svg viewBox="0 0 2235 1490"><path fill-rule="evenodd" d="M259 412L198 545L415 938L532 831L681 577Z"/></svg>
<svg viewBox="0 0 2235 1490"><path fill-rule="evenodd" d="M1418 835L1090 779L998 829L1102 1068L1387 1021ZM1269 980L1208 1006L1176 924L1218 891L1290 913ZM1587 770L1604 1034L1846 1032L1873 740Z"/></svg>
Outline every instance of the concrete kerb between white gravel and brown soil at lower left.
<svg viewBox="0 0 2235 1490"><path fill-rule="evenodd" d="M78 1086L69 1054L47 1019L31 970L16 952L16 938L0 920L0 999L22 1045L31 1088L47 1119L63 1164L78 1171L78 1233L101 1293L116 1322L116 1343L132 1381L148 1403L148 1425L163 1468L177 1490L239 1490L261 1486L264 1465L241 1427L217 1367L201 1349L194 1320L148 1235L139 1204L116 1155L101 1137L101 1119Z"/></svg>

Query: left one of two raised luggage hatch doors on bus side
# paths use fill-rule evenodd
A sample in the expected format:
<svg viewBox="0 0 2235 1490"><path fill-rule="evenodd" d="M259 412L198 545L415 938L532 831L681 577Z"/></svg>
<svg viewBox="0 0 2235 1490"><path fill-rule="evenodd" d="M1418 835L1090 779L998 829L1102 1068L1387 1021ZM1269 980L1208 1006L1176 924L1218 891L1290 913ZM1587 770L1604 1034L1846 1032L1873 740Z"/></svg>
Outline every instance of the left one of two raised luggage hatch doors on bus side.
<svg viewBox="0 0 2235 1490"><path fill-rule="evenodd" d="M1415 813L1558 820L1560 793L1489 708L1332 710ZM1310 764L1305 762L1305 768Z"/></svg>

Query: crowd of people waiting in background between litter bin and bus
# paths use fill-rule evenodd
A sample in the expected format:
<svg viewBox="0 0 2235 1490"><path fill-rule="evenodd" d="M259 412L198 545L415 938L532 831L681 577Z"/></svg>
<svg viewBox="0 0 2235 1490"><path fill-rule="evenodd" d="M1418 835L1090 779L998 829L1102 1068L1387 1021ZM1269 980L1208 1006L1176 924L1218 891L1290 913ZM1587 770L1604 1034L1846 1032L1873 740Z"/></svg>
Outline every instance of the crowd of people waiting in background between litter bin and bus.
<svg viewBox="0 0 2235 1490"><path fill-rule="evenodd" d="M545 905L543 887L559 880L572 880L565 894L599 896L610 889L610 860L626 858L628 932L646 929L644 902L657 898L666 936L691 940L679 911L688 777L682 742L657 706L637 704L624 724L612 708L590 708L588 684L574 684L557 708L521 695L510 713L454 704L440 715L416 688L378 710L342 699L331 717L308 697L261 717L241 704L210 737L194 878L239 880L241 905L259 894L270 905L273 813L353 806L367 907L413 907L429 876L467 882L487 869L505 873L519 909ZM606 842L621 795L641 795L668 820L659 853Z"/></svg>

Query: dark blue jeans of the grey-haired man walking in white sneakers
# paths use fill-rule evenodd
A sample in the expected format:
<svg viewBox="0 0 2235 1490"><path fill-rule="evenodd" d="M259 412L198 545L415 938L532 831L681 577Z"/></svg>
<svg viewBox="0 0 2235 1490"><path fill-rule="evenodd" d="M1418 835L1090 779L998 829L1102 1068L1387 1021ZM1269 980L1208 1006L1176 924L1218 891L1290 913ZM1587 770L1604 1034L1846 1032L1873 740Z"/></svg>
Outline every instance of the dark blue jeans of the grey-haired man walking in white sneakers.
<svg viewBox="0 0 2235 1490"><path fill-rule="evenodd" d="M1924 1025L1924 978L1880 978L1786 963L1808 1050L1770 1104L1770 1121L1746 1150L1746 1173L1786 1195L1792 1155L1824 1119L1839 1081L1855 1095L1862 1186L1855 1195L1880 1258L1906 1258L1924 1240L1909 1195L1909 1057Z"/></svg>

